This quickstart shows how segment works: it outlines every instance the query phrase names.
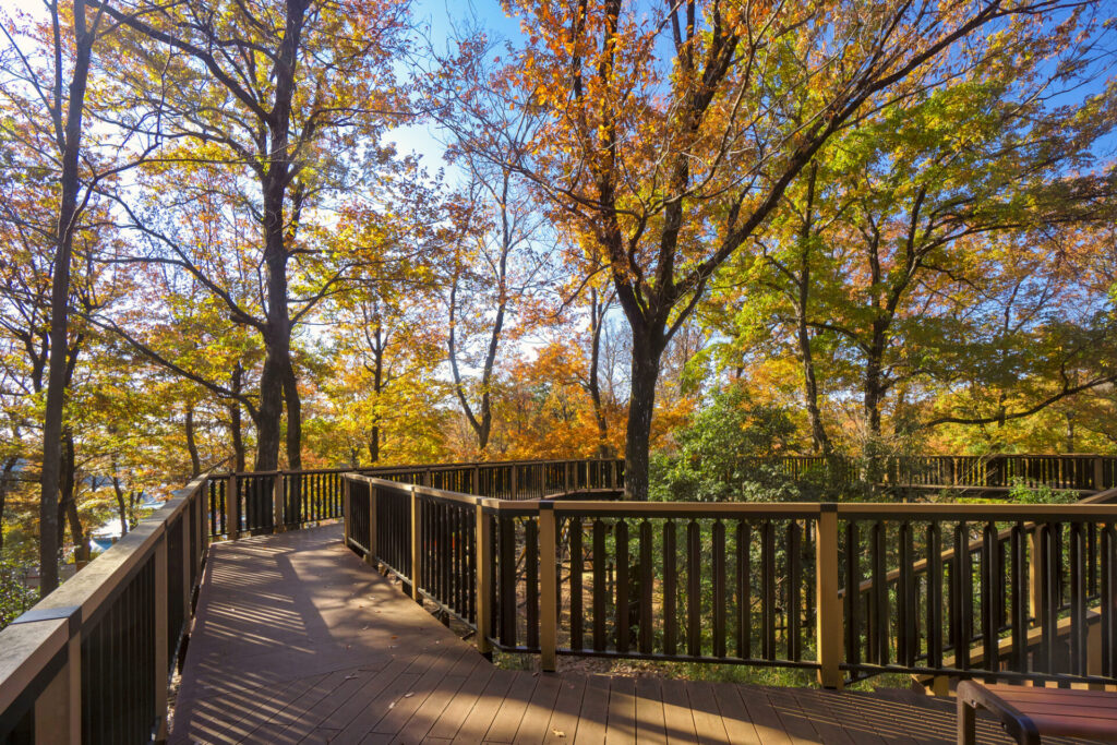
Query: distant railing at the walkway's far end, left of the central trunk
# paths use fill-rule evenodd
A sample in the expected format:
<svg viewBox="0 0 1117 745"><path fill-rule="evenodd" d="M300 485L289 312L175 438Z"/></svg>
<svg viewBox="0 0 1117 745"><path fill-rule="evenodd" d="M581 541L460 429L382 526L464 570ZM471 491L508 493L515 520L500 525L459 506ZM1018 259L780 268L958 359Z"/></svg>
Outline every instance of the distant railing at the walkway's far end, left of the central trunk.
<svg viewBox="0 0 1117 745"><path fill-rule="evenodd" d="M622 489L623 460L524 460L323 468L299 471L216 474L209 485L209 532L212 537L295 529L342 516L342 475L422 484L502 499L537 499L589 489ZM236 495L230 499L229 495ZM229 525L237 529L229 535Z"/></svg>

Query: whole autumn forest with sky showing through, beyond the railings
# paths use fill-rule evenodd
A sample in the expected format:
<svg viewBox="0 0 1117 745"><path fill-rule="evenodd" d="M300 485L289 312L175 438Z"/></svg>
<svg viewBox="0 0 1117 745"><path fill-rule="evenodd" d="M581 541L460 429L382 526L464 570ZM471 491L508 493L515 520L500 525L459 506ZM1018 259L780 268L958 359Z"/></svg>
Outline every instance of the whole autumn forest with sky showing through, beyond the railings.
<svg viewBox="0 0 1117 745"><path fill-rule="evenodd" d="M448 8L6 3L4 603L212 468L1117 452L1111 3Z"/></svg>

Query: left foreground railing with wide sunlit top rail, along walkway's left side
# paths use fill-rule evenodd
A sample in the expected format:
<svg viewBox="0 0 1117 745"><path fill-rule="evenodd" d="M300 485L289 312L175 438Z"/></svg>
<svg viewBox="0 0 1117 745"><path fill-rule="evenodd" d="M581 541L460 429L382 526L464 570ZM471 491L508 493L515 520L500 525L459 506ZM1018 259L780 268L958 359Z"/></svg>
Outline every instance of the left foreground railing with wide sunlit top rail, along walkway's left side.
<svg viewBox="0 0 1117 745"><path fill-rule="evenodd" d="M207 478L0 630L0 743L166 736L176 661L209 531Z"/></svg>

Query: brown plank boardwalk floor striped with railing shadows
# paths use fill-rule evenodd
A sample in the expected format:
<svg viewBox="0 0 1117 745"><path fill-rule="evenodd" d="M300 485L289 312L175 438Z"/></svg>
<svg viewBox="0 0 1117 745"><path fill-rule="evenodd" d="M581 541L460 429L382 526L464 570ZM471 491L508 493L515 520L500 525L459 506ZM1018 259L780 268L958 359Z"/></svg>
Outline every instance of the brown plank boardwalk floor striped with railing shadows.
<svg viewBox="0 0 1117 745"><path fill-rule="evenodd" d="M953 743L953 701L495 668L327 526L212 546L173 743ZM978 722L978 742L1009 743Z"/></svg>

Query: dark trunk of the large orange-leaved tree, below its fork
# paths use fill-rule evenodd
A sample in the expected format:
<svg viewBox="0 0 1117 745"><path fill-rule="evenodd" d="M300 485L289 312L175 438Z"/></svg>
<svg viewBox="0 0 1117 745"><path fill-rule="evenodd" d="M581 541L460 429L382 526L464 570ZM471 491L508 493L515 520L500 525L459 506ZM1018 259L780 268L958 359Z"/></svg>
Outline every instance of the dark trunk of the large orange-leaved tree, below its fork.
<svg viewBox="0 0 1117 745"><path fill-rule="evenodd" d="M666 346L665 342L648 336L647 332L632 328L632 392L624 442L624 498L638 502L648 499L651 416L656 409L659 360Z"/></svg>

